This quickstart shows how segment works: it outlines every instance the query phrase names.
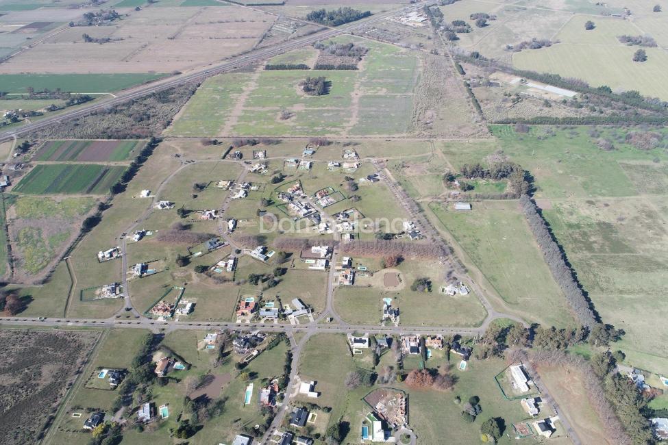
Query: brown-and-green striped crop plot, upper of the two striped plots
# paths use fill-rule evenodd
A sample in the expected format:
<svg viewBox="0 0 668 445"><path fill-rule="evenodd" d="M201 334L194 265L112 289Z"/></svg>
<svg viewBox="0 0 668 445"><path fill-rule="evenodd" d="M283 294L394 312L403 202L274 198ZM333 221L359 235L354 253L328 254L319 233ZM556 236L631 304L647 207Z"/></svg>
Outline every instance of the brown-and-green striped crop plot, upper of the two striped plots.
<svg viewBox="0 0 668 445"><path fill-rule="evenodd" d="M51 140L35 154L36 161L125 161L136 155L140 140Z"/></svg>

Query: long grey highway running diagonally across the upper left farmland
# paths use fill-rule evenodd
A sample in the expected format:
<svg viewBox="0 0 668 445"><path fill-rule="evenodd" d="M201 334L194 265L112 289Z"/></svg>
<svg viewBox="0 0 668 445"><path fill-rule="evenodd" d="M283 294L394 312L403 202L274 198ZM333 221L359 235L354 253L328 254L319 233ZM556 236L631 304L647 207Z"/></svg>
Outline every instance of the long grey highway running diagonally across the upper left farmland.
<svg viewBox="0 0 668 445"><path fill-rule="evenodd" d="M337 27L335 29L327 28L324 31L319 31L314 34L309 34L308 36L296 38L295 40L277 43L262 49L255 49L252 51L248 51L247 53L242 55L237 55L234 58L228 58L225 62L221 64L212 64L210 66L198 68L197 70L193 70L188 73L183 73L180 75L168 77L166 79L154 81L151 84L145 84L136 86L134 88L129 88L128 90L124 90L123 92L119 92L118 94L116 94L116 97L111 97L109 99L102 99L101 101L96 101L95 103L91 103L90 105L87 106L84 105L83 107L79 107L77 108L77 110L63 112L61 114L49 116L47 118L43 118L42 120L38 120L36 122L23 125L21 127L16 127L14 129L1 131L0 141L9 138L14 138L16 136L21 136L22 134L29 133L36 129L48 127L49 125L60 123L64 120L86 116L91 112L104 110L112 105L117 105L119 103L130 101L132 99L138 99L153 92L166 90L168 88L186 84L188 82L201 82L207 77L226 73L227 71L232 71L236 68L247 66L255 62L260 62L262 60L266 60L267 58L271 58L274 55L284 53L286 51L306 47L312 44L313 42L317 42L318 40L332 38L334 36L338 36L339 34L345 34L347 32L354 31L355 29L358 29L360 27L366 27L378 21L382 21L385 18L399 14L404 14L407 11L417 10L425 5L432 5L435 3L437 3L436 0L428 0L423 3L415 3L415 5L409 5L404 8L390 10L387 12L380 12L378 14L373 14L368 18L362 18L359 21L348 23L346 25L341 25L340 27Z"/></svg>

